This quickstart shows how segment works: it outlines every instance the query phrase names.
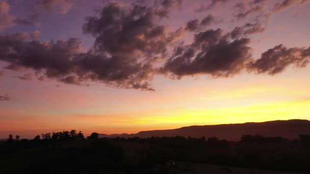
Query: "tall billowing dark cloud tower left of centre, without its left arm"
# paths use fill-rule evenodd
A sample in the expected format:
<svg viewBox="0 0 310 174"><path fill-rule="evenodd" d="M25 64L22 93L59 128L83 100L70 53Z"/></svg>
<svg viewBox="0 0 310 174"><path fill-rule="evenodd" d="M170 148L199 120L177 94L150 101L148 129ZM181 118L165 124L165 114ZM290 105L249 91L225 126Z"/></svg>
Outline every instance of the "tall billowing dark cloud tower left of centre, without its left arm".
<svg viewBox="0 0 310 174"><path fill-rule="evenodd" d="M162 8L170 6L163 3ZM124 80L118 85L152 90L147 86L153 78L154 59L164 57L167 46L182 35L182 30L170 32L166 26L156 24L162 17L158 10L140 5L126 10L111 3L99 17L87 18L83 31L95 37L94 51L110 56L89 62L100 78ZM97 67L98 61L107 68Z"/></svg>

